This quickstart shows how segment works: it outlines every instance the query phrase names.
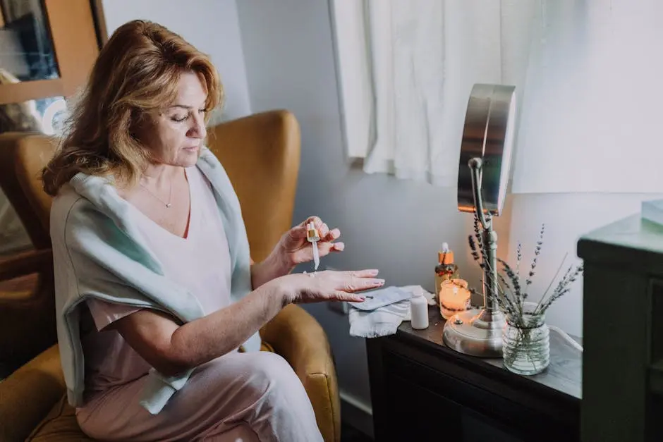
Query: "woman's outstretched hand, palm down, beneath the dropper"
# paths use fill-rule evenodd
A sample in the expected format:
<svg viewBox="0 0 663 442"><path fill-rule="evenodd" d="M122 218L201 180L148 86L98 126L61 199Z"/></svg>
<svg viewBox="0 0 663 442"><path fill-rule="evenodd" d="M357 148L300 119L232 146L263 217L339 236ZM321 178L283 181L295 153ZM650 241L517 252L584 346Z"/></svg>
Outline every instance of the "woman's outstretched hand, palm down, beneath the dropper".
<svg viewBox="0 0 663 442"><path fill-rule="evenodd" d="M384 286L375 278L377 270L317 271L313 274L289 274L272 280L279 284L284 304L321 301L362 302L358 292Z"/></svg>

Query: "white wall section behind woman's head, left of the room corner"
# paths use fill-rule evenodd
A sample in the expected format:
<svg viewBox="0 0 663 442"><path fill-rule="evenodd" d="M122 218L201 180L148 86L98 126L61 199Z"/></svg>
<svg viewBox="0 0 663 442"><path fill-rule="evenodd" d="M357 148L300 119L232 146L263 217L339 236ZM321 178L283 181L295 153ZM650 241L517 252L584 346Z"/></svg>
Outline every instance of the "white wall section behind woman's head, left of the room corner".
<svg viewBox="0 0 663 442"><path fill-rule="evenodd" d="M226 89L226 104L214 114L212 124L251 113L235 0L103 0L102 4L109 35L129 20L152 20L212 57Z"/></svg>

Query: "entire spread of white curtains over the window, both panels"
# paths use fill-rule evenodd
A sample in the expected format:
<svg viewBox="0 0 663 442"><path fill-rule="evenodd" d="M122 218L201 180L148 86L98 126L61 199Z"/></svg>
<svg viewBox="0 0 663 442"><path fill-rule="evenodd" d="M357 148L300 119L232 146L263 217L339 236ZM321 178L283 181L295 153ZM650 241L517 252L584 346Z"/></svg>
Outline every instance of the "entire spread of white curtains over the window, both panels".
<svg viewBox="0 0 663 442"><path fill-rule="evenodd" d="M661 192L661 0L333 0L348 156L455 185L475 82L516 86L513 193Z"/></svg>

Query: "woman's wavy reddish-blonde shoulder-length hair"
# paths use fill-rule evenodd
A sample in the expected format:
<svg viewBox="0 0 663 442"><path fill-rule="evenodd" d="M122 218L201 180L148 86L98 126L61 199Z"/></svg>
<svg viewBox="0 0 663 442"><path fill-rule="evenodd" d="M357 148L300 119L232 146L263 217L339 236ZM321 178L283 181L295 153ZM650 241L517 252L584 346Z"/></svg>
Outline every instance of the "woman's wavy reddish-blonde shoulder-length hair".
<svg viewBox="0 0 663 442"><path fill-rule="evenodd" d="M99 51L66 135L42 171L44 190L57 195L79 172L135 182L150 159L138 129L147 115L174 101L185 72L197 73L205 85L207 110L222 102L219 74L207 55L157 23L133 20L118 27Z"/></svg>

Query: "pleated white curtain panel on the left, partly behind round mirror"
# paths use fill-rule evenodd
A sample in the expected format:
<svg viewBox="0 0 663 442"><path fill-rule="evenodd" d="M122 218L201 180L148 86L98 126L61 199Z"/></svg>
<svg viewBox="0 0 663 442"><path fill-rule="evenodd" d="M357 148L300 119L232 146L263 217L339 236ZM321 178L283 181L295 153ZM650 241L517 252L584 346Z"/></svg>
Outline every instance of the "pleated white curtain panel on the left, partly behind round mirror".
<svg viewBox="0 0 663 442"><path fill-rule="evenodd" d="M455 185L477 82L524 87L538 0L333 0L348 156Z"/></svg>

